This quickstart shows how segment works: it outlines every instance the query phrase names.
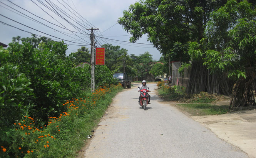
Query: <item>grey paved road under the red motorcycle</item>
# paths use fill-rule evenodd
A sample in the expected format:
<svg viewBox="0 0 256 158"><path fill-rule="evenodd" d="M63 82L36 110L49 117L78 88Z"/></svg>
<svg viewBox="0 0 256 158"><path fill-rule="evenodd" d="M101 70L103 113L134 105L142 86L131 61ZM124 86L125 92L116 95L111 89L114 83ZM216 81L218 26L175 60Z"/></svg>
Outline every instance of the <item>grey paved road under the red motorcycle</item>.
<svg viewBox="0 0 256 158"><path fill-rule="evenodd" d="M151 105L138 105L137 86L119 93L95 130L82 158L248 158L200 123L164 104L152 91Z"/></svg>

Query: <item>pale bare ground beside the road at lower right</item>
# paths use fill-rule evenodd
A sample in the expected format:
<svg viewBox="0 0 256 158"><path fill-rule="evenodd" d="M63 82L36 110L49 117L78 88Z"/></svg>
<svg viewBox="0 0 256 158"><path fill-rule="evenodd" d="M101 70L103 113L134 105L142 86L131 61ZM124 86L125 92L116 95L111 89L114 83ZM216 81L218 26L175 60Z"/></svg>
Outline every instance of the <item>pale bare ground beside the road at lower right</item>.
<svg viewBox="0 0 256 158"><path fill-rule="evenodd" d="M176 106L181 103L169 104L182 111ZM229 105L229 100L221 100L214 104ZM217 137L243 150L249 158L256 158L256 109L207 116L183 113L210 129Z"/></svg>

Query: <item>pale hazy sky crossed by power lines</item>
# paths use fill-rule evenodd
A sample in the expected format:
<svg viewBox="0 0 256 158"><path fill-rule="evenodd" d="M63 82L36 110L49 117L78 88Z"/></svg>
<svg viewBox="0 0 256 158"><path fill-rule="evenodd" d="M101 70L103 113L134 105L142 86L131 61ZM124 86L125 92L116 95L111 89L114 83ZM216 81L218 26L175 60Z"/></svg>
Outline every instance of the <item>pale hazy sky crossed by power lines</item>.
<svg viewBox="0 0 256 158"><path fill-rule="evenodd" d="M129 34L122 29L122 26L117 23L119 17L122 17L123 11L128 10L131 4L134 4L137 0L1 0L0 3L0 21L3 23L7 23L9 25L15 26L22 30L34 33L36 35L47 36L54 40L61 41L61 39L65 39L67 43L68 41L89 44L90 39L89 35L90 31L86 30L86 28L99 28L99 31L95 30L96 36L103 36L104 38L96 38L97 46L100 47L101 44L109 43L114 46L119 45L121 48L128 49L128 54L143 54L145 51L148 51L152 58L155 60L159 60L161 54L157 51L156 48L153 48L152 45L142 45L142 44L132 44L132 43L125 43L121 41L129 41ZM33 3L34 2L34 3ZM65 19L69 20L74 26L70 25L60 16L57 16L56 13L50 11L47 7L40 2L46 4L47 7L50 9L51 6L56 5L59 7L60 10L54 8L60 15L62 15ZM48 2L48 3L47 3ZM14 4L13 4L14 3ZM16 6L16 5L17 6ZM41 8L39 8L37 5ZM49 5L51 4L51 5ZM10 8L12 7L12 8ZM73 9L71 9L71 8ZM28 13L28 12L33 13ZM67 9L68 8L68 9ZM15 10L14 10L15 9ZM18 10L19 12L17 12ZM53 9L52 9L53 10ZM44 12L45 11L45 12ZM60 11L65 11L70 19L65 16ZM18 13L18 14L17 14ZM49 13L49 15L47 14ZM79 13L79 14L77 14ZM28 15L29 17L25 16ZM80 16L79 16L80 15ZM6 17L4 17L6 16ZM25 17L23 17L25 16ZM52 16L52 17L51 17ZM8 19L10 18L10 19ZM45 25L40 24L35 20L31 20L33 18ZM72 21L73 19L74 21ZM14 22L15 20L17 22ZM47 21L49 22L47 22ZM18 30L17 28L13 28L12 26L4 25L0 23L0 42L4 44L8 44L12 42L12 37L21 36L21 37L30 37L31 34ZM20 24L19 24L20 23ZM54 23L55 25L51 24ZM23 24L23 25L22 25ZM27 25L27 26L24 26ZM58 26L56 26L58 25ZM60 28L60 27L62 28ZM33 29L35 30L33 30ZM65 29L63 29L65 28ZM73 32L71 32L71 31ZM59 32L60 31L60 32ZM77 33L74 33L77 32ZM48 34L48 35L47 35ZM64 35L65 34L65 35ZM51 35L51 36L50 36ZM55 37L57 38L55 38ZM59 39L61 38L61 39ZM120 40L120 41L113 41L110 39ZM77 44L73 43L73 44ZM137 43L147 43L147 36L142 36L141 39L137 41ZM83 45L78 44L78 45ZM81 46L69 45L67 54L71 52L75 52ZM86 46L90 48L90 46Z"/></svg>

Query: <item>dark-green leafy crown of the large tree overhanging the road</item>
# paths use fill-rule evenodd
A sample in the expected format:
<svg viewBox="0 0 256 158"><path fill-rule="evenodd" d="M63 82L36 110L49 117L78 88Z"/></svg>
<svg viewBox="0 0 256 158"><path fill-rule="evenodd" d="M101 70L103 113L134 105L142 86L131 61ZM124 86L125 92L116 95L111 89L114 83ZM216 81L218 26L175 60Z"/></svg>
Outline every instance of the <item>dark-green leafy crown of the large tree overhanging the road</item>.
<svg viewBox="0 0 256 158"><path fill-rule="evenodd" d="M147 34L148 40L171 61L187 62L188 41L203 38L209 14L226 0L145 0L125 10L118 23L130 33L131 42Z"/></svg>

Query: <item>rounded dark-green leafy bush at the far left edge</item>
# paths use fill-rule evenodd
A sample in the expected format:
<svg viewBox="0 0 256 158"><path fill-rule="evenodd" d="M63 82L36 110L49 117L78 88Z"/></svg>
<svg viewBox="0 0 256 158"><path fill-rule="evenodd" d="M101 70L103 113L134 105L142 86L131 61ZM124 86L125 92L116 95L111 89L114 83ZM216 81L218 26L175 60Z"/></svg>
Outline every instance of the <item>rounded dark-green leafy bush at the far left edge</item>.
<svg viewBox="0 0 256 158"><path fill-rule="evenodd" d="M28 114L32 107L33 89L29 87L30 80L18 72L17 66L3 64L0 74L0 124L8 126L23 114Z"/></svg>

